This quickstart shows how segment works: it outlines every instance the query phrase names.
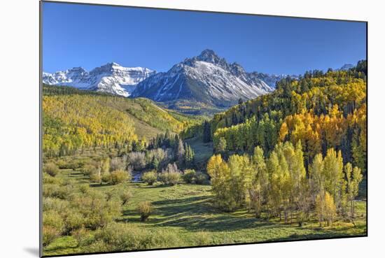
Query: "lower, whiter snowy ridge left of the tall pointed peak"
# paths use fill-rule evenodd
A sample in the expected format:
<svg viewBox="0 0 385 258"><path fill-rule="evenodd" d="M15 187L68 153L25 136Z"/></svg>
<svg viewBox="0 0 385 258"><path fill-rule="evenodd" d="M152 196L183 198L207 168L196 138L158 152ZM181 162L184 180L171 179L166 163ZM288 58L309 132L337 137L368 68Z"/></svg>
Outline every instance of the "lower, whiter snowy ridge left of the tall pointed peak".
<svg viewBox="0 0 385 258"><path fill-rule="evenodd" d="M43 73L43 83L130 96L136 85L156 72L144 67L123 67L114 62L90 72L81 67L55 73Z"/></svg>

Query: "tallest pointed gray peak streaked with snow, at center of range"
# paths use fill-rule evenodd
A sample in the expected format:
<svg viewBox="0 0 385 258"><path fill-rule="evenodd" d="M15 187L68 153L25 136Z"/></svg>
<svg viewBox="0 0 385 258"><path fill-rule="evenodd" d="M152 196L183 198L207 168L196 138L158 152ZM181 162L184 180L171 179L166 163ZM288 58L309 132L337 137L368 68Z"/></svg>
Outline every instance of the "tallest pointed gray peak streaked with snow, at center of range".
<svg viewBox="0 0 385 258"><path fill-rule="evenodd" d="M144 96L155 101L188 100L231 106L241 99L253 99L274 90L237 63L228 64L213 50L185 59L165 73L143 80L132 97Z"/></svg>

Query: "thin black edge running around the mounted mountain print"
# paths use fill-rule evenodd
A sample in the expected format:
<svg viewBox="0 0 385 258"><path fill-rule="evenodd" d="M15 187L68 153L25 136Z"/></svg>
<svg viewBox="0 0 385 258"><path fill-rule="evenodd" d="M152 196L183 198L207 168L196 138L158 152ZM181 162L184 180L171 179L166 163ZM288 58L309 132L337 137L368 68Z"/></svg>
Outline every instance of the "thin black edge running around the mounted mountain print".
<svg viewBox="0 0 385 258"><path fill-rule="evenodd" d="M92 1L92 0L90 0ZM84 252L77 254L66 254L66 255L43 255L43 3L63 3L63 4L73 4L73 5L85 5L85 6L109 6L117 8L141 8L141 9L152 9L152 10L176 10L176 11L187 11L187 12L196 12L196 13L220 13L228 15L253 15L253 16L263 16L263 17L287 17L287 18L296 18L296 19L306 19L306 20L329 20L337 22L364 22L366 24L366 61L368 63L368 22L364 20L339 20L331 18L317 18L317 17L300 17L300 16L288 16L288 15L263 15L257 13L231 13L225 11L213 11L213 10L190 10L190 9L179 9L179 8L160 8L160 7L150 7L150 6L126 6L120 4L107 4L107 3L78 3L71 1L55 1L55 0L39 0L39 257L70 257L76 255L102 255L102 254L111 254L111 253L127 253L127 252L148 252L148 251L158 251L158 250L177 250L177 249L189 249L189 248L216 248L222 246L233 246L233 245L255 245L262 243L287 243L287 242L298 242L298 241L318 241L323 240L327 241L330 239L344 239L344 238L364 238L367 237L368 231L368 159L366 158L366 232L363 235L358 236L336 236L331 238L311 238L311 239L293 239L293 240L281 240L281 241L260 241L253 243L231 243L231 244L220 244L220 245L196 245L196 246L181 246L177 248L153 248L153 249L143 249L143 250L122 250L122 251L113 251L113 252ZM366 78L366 157L368 157L368 83L369 83L369 66L367 65L367 78Z"/></svg>

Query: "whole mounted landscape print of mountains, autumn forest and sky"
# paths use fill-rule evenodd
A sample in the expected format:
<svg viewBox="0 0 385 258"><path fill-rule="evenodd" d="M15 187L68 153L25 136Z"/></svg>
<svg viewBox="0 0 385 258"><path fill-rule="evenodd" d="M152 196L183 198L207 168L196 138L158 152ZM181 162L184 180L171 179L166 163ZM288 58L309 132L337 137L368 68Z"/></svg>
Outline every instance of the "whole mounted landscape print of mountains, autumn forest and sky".
<svg viewBox="0 0 385 258"><path fill-rule="evenodd" d="M367 236L367 22L42 1L40 72L42 256Z"/></svg>

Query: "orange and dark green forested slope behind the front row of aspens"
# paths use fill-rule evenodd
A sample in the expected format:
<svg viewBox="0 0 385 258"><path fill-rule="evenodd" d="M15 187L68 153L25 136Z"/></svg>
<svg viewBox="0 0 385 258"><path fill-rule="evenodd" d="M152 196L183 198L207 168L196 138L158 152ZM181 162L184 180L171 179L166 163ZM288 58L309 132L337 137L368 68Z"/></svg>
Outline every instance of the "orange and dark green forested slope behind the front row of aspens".
<svg viewBox="0 0 385 258"><path fill-rule="evenodd" d="M183 131L199 136L223 153L251 154L260 146L268 156L276 143L301 142L305 167L329 148L342 151L344 163L366 171L366 62L349 71L307 72L299 80L284 79L276 91L240 101L202 125Z"/></svg>

